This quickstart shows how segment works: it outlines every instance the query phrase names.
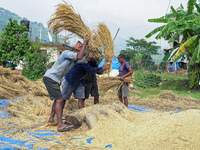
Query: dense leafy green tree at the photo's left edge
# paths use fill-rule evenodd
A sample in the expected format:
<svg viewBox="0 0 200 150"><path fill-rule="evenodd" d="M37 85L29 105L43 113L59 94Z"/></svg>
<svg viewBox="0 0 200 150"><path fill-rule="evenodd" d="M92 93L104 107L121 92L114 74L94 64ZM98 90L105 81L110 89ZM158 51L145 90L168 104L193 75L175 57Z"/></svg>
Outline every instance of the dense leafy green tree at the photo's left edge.
<svg viewBox="0 0 200 150"><path fill-rule="evenodd" d="M1 33L0 61L3 64L11 61L17 65L20 60L24 60L31 45L26 30L27 28L19 25L17 20L9 18L8 24Z"/></svg>

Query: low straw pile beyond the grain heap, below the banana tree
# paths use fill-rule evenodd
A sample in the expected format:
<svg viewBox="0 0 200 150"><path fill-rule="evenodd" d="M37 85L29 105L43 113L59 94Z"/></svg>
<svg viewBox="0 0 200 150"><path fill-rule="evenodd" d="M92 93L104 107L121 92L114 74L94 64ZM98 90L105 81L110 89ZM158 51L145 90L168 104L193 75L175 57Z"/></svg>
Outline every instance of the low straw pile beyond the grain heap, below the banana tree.
<svg viewBox="0 0 200 150"><path fill-rule="evenodd" d="M131 97L129 103L133 105L144 105L145 107L156 108L159 110L200 109L199 100L189 96L176 95L172 91L164 91L156 98L151 99Z"/></svg>

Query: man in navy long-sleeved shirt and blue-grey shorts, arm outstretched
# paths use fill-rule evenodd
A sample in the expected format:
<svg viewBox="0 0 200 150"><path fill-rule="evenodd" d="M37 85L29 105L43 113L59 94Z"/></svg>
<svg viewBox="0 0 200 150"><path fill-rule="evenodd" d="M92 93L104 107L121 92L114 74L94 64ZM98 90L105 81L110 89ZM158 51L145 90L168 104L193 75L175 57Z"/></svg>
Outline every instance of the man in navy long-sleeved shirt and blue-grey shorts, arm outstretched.
<svg viewBox="0 0 200 150"><path fill-rule="evenodd" d="M100 73L103 70L109 69L110 65L104 64L103 67L91 67L87 64L76 64L65 76L62 83L62 95L64 100L68 100L72 93L74 98L78 99L78 108L84 107L85 101L85 86L83 78L87 72Z"/></svg>

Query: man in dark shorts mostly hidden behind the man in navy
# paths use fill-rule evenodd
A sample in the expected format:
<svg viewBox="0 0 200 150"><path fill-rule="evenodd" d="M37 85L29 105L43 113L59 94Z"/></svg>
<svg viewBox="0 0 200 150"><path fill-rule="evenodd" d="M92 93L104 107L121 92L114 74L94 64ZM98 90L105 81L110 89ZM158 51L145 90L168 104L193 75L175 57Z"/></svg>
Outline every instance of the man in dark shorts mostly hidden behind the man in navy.
<svg viewBox="0 0 200 150"><path fill-rule="evenodd" d="M90 64L91 67L98 67L95 57L91 57L91 61L89 61L88 63ZM84 84L85 84L85 99L88 99L89 95L91 94L91 96L94 96L94 104L98 104L99 91L98 91L96 73L87 72L84 77Z"/></svg>

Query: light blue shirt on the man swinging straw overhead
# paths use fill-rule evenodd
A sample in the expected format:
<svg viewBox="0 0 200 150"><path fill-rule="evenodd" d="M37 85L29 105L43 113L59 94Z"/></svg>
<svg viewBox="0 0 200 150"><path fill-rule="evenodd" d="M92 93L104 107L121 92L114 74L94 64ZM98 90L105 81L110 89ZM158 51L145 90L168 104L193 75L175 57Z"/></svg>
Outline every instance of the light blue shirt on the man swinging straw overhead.
<svg viewBox="0 0 200 150"><path fill-rule="evenodd" d="M51 69L46 71L44 76L51 78L60 84L61 79L76 63L87 63L85 57L83 57L82 60L77 60L76 57L77 53L69 50L63 51Z"/></svg>

